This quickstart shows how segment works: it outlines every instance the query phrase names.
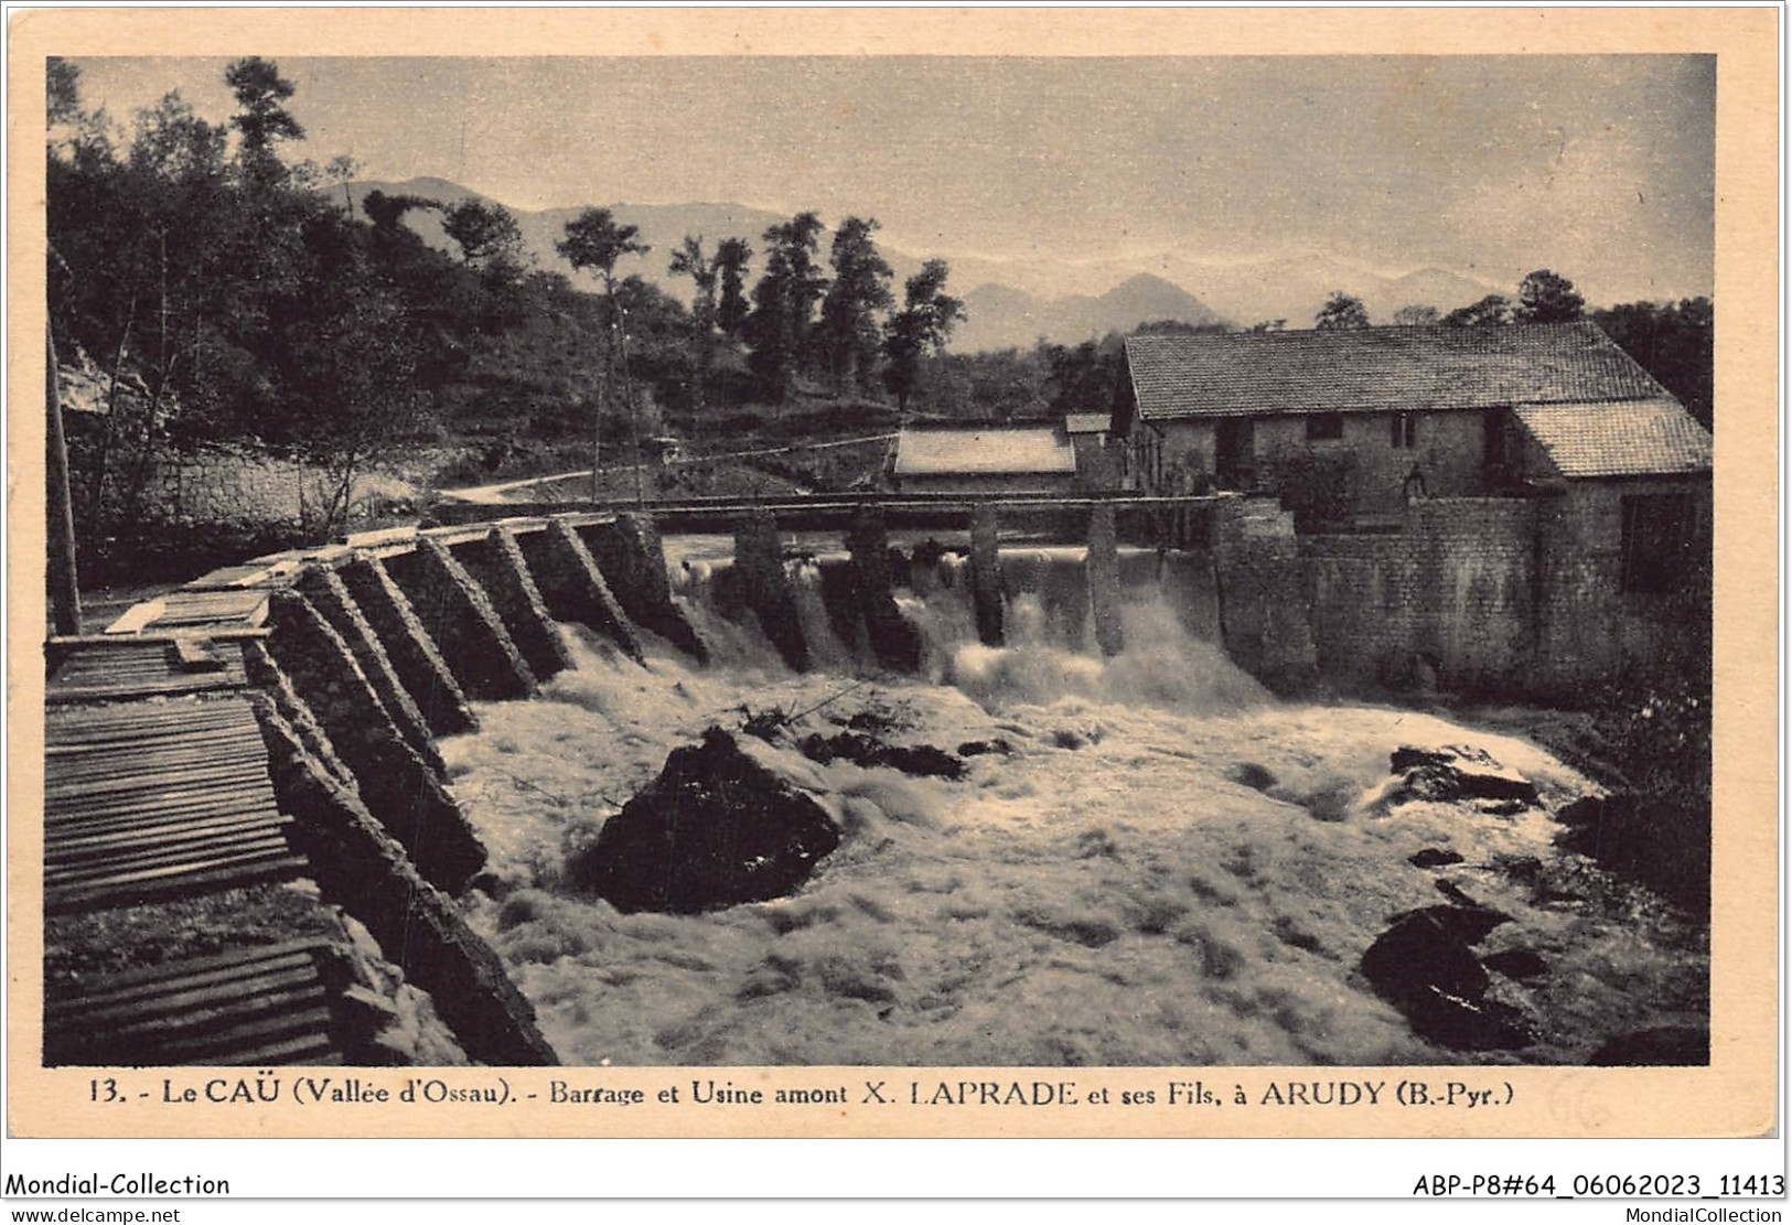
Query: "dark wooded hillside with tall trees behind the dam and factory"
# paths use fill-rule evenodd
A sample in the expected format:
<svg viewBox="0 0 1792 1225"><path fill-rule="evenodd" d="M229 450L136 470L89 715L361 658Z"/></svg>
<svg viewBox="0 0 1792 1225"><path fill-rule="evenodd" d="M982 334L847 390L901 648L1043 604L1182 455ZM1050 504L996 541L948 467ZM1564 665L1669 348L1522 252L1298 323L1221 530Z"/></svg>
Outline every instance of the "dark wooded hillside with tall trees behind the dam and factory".
<svg viewBox="0 0 1792 1225"><path fill-rule="evenodd" d="M869 217L830 227L812 211L767 220L706 206L702 217L763 227L668 242L665 226L699 211L667 206L656 249L607 208L520 220L446 181L369 184L353 159L317 165L287 109L297 84L265 59L226 70L237 113L224 122L168 93L122 124L82 106L73 64L52 61L48 77L50 342L65 365L109 378L97 410L70 414L70 435L81 534L118 550L145 530L149 457L170 451L235 446L314 466L328 489L317 534L340 530L371 469L486 484L595 458L629 469L604 485L629 496L636 466L681 446L708 462L667 469L659 489L851 487L876 476L869 460L719 453L914 417L1102 412L1122 333L1093 333L1115 310L1163 315L1129 331L1231 326L1168 281L1134 278L1036 303L1041 319L1088 328L1082 344L950 353L978 292L953 296L944 260L885 258ZM550 222L557 231L541 229ZM543 244L573 276L543 267ZM1564 278L1536 272L1516 301L1396 317L1581 315ZM1710 421L1706 299L1591 317ZM1340 292L1315 324L1367 321Z"/></svg>

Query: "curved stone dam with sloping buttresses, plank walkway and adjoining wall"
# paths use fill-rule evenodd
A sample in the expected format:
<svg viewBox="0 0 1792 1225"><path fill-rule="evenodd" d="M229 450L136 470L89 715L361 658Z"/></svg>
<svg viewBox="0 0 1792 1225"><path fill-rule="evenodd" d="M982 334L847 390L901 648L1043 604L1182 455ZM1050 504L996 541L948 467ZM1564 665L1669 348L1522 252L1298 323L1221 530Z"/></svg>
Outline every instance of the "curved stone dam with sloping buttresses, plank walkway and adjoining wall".
<svg viewBox="0 0 1792 1225"><path fill-rule="evenodd" d="M491 863L439 741L570 670L570 625L701 668L701 611L792 673L916 675L928 593L989 648L1030 593L1115 657L1149 587L1281 693L1555 684L1536 550L1432 543L1521 532L1505 509L1414 509L1380 544L1398 591L1236 496L491 512L258 557L48 641L45 1066L557 1062L461 904Z"/></svg>

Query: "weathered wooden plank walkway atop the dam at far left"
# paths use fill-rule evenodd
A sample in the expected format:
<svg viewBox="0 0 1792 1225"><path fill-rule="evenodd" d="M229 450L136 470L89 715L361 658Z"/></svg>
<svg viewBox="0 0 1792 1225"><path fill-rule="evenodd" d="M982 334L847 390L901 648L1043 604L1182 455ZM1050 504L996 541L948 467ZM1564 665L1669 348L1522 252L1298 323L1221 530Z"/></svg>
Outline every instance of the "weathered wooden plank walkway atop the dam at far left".
<svg viewBox="0 0 1792 1225"><path fill-rule="evenodd" d="M154 958L129 910L306 876L280 811L244 670L290 566L217 571L106 636L54 639L45 686L43 910L104 913ZM113 926L115 924L115 926ZM263 944L45 983L56 1066L340 1064L326 940Z"/></svg>

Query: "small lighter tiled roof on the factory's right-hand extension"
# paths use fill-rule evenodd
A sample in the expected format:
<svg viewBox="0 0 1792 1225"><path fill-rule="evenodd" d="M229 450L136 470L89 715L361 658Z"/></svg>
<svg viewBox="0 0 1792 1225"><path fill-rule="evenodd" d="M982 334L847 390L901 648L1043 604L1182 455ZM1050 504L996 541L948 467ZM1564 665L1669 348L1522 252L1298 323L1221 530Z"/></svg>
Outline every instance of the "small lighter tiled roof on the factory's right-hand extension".
<svg viewBox="0 0 1792 1225"><path fill-rule="evenodd" d="M1711 435L1672 399L1514 408L1563 476L1711 471Z"/></svg>

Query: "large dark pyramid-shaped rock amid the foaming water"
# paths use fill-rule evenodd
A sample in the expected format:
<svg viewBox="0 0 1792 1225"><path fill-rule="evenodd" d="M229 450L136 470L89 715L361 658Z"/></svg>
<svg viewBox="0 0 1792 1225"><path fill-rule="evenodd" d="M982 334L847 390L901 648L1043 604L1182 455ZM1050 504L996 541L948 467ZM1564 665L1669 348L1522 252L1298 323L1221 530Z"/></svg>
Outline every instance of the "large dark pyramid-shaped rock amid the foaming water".
<svg viewBox="0 0 1792 1225"><path fill-rule="evenodd" d="M701 745L672 750L566 861L566 879L616 910L695 913L783 897L839 845L821 804L711 727Z"/></svg>

